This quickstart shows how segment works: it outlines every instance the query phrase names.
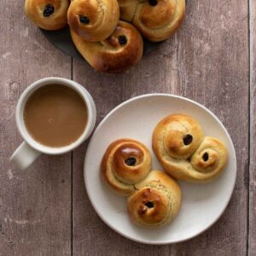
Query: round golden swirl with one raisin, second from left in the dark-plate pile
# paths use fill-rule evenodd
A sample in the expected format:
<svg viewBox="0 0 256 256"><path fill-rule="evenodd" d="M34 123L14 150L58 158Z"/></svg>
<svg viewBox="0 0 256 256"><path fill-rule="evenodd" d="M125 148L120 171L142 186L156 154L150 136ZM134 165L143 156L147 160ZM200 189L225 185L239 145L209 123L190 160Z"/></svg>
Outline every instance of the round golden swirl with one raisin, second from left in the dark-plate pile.
<svg viewBox="0 0 256 256"><path fill-rule="evenodd" d="M90 42L102 41L119 22L119 4L117 0L73 0L67 20L79 37Z"/></svg>

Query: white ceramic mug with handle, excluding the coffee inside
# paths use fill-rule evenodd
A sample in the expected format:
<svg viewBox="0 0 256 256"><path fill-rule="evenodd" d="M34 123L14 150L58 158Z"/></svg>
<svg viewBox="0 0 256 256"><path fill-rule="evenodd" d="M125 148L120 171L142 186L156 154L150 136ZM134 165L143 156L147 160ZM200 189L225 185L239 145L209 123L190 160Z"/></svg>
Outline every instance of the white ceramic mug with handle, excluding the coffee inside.
<svg viewBox="0 0 256 256"><path fill-rule="evenodd" d="M24 108L26 101L38 88L47 84L61 84L66 85L73 90L76 90L80 96L84 99L85 105L88 112L87 125L83 134L73 143L60 148L51 148L44 146L37 141L35 141L32 136L26 130L26 125L24 123ZM31 84L23 91L18 101L15 113L16 124L20 135L23 137L24 142L20 144L20 147L15 150L15 153L11 156L11 162L15 163L21 170L25 170L28 166L31 166L33 161L38 158L40 154L64 154L74 148L79 147L88 137L90 137L91 132L96 124L96 106L90 93L84 89L84 87L72 80L61 79L61 78L46 78L40 79L37 82Z"/></svg>

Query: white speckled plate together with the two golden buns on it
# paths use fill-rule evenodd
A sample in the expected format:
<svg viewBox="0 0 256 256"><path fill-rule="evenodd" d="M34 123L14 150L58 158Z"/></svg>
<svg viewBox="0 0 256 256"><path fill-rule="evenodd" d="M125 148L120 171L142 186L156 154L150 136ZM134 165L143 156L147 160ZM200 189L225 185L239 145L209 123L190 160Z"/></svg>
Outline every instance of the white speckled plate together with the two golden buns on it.
<svg viewBox="0 0 256 256"><path fill-rule="evenodd" d="M84 183L92 206L120 235L147 244L186 241L228 206L236 152L207 108L148 94L114 108L91 137Z"/></svg>

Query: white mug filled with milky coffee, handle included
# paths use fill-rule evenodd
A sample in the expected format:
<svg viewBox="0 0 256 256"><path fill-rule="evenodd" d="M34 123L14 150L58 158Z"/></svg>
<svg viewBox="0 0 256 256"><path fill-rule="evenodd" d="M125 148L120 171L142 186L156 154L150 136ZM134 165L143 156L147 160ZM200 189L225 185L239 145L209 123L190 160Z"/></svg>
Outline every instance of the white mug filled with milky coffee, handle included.
<svg viewBox="0 0 256 256"><path fill-rule="evenodd" d="M10 160L26 169L42 153L64 154L83 143L96 124L96 106L82 85L48 78L24 90L15 117L24 142Z"/></svg>

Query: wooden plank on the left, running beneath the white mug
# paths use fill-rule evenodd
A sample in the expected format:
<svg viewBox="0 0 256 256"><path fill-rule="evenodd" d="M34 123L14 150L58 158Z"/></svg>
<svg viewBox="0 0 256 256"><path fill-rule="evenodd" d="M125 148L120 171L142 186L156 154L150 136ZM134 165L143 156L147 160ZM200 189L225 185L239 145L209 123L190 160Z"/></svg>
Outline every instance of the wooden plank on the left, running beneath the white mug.
<svg viewBox="0 0 256 256"><path fill-rule="evenodd" d="M70 57L26 19L23 4L3 0L0 9L0 255L70 255L71 154L41 156L24 172L9 164L21 143L21 92L37 79L71 76Z"/></svg>

